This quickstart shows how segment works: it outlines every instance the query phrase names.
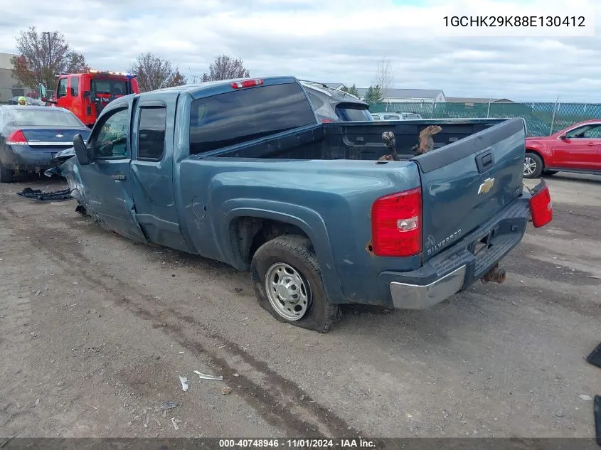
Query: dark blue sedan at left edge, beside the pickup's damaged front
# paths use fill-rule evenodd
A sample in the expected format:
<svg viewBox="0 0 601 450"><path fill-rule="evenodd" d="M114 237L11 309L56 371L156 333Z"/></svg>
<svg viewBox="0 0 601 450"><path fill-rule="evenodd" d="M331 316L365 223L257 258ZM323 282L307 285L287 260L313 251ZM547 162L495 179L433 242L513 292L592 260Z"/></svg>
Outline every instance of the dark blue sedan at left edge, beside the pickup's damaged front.
<svg viewBox="0 0 601 450"><path fill-rule="evenodd" d="M87 139L90 130L63 108L0 106L0 183L15 174L41 174L53 156L73 146L73 136Z"/></svg>

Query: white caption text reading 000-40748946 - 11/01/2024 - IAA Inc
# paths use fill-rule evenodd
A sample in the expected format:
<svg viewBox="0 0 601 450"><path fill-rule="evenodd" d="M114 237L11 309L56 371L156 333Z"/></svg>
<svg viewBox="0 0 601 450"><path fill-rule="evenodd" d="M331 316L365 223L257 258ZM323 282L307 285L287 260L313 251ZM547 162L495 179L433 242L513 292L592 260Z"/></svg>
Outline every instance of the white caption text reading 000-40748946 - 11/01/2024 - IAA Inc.
<svg viewBox="0 0 601 450"><path fill-rule="evenodd" d="M220 449L235 449L238 447L257 449L375 449L376 444L369 439L220 439Z"/></svg>

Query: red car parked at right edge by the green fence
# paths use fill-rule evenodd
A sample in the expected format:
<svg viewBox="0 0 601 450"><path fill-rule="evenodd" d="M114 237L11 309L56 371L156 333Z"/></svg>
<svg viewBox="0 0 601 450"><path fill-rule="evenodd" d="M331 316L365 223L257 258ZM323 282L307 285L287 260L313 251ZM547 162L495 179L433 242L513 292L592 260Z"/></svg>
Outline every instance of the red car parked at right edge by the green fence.
<svg viewBox="0 0 601 450"><path fill-rule="evenodd" d="M543 137L526 138L523 178L557 172L601 174L601 119Z"/></svg>

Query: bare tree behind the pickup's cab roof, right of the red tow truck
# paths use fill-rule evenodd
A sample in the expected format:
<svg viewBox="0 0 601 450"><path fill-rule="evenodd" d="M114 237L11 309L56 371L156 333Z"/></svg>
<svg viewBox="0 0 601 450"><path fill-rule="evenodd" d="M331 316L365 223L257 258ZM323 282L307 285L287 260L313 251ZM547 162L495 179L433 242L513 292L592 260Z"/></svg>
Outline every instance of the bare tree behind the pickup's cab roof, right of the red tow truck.
<svg viewBox="0 0 601 450"><path fill-rule="evenodd" d="M184 75L181 75L177 68L172 70L169 60L150 52L138 56L132 66L132 72L137 75L142 92L186 84Z"/></svg>

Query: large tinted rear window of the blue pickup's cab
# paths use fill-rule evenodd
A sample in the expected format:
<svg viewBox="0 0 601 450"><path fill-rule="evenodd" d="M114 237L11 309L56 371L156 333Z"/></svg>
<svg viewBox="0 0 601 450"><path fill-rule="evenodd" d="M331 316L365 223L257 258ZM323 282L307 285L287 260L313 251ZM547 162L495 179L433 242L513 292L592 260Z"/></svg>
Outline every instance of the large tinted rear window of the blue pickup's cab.
<svg viewBox="0 0 601 450"><path fill-rule="evenodd" d="M194 100L190 153L198 154L315 124L296 83L248 87Z"/></svg>

